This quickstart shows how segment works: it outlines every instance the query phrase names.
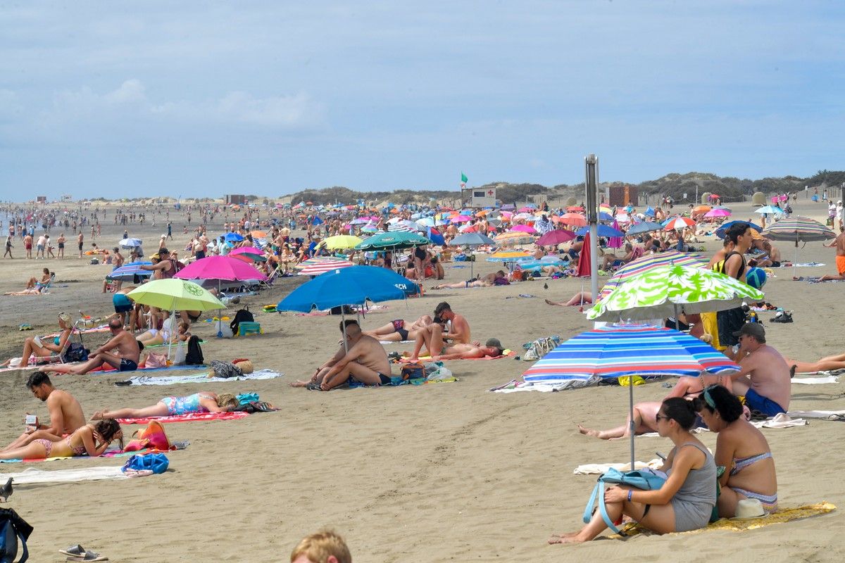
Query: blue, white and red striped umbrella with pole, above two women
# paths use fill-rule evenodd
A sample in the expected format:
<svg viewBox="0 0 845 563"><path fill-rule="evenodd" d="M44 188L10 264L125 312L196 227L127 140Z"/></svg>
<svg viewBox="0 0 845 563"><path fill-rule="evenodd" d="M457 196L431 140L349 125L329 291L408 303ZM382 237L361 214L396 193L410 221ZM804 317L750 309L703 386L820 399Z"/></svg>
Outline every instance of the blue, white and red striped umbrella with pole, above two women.
<svg viewBox="0 0 845 563"><path fill-rule="evenodd" d="M559 344L532 365L526 382L615 379L620 376L697 376L739 371L710 344L671 328L608 325ZM630 456L634 467L634 385L628 386Z"/></svg>

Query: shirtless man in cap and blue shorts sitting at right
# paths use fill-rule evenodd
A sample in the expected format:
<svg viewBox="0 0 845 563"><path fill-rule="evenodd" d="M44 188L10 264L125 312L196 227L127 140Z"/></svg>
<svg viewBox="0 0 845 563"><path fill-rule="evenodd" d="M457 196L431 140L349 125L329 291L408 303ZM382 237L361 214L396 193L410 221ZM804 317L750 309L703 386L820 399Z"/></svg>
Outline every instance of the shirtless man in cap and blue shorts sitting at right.
<svg viewBox="0 0 845 563"><path fill-rule="evenodd" d="M746 322L733 333L739 337L739 367L730 375L733 392L745 396L749 409L768 416L789 409L791 379L789 366L780 353L766 344L766 329L759 322Z"/></svg>

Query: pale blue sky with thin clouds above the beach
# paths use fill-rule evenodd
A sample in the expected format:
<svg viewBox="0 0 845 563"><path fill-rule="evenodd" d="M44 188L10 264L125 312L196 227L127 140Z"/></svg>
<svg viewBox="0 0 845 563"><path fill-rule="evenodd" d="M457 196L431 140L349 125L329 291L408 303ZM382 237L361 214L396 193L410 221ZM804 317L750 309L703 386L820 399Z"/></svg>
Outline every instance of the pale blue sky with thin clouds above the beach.
<svg viewBox="0 0 845 563"><path fill-rule="evenodd" d="M843 170L845 3L0 0L0 199Z"/></svg>

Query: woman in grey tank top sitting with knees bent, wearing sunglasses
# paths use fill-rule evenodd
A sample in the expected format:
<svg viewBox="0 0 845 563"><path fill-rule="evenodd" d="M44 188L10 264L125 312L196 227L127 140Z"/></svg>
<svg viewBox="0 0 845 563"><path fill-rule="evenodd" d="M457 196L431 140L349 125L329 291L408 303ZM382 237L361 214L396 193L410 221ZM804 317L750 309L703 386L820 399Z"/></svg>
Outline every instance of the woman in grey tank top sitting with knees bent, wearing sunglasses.
<svg viewBox="0 0 845 563"><path fill-rule="evenodd" d="M642 528L656 533L687 532L707 525L716 505L716 463L704 444L690 434L695 414L691 401L682 398L663 401L657 413L657 431L675 445L660 468L668 479L656 490L626 485L608 487L604 502L612 522L626 515ZM548 543L590 541L607 527L602 511L596 511L580 531L555 535Z"/></svg>

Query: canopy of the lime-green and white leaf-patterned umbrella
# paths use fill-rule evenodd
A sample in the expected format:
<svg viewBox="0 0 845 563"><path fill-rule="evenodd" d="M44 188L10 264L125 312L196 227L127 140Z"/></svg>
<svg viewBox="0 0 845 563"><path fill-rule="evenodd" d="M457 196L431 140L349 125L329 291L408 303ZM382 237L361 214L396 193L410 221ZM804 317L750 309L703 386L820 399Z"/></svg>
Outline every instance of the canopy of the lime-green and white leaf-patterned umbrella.
<svg viewBox="0 0 845 563"><path fill-rule="evenodd" d="M701 268L670 265L625 279L590 311L592 321L646 320L724 311L743 300L763 300L763 293L739 279Z"/></svg>

